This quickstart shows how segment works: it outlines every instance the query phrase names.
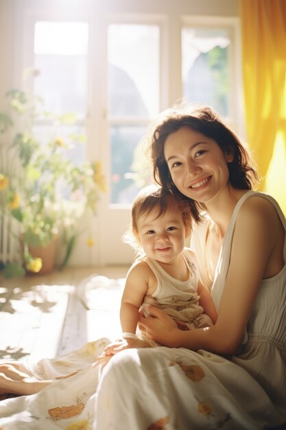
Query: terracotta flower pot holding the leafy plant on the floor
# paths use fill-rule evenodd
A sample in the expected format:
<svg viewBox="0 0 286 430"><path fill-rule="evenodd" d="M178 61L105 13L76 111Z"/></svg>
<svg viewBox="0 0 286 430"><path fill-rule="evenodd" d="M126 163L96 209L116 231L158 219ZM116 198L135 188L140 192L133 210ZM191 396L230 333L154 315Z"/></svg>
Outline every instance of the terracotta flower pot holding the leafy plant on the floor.
<svg viewBox="0 0 286 430"><path fill-rule="evenodd" d="M28 245L28 251L33 258L40 258L42 260L42 267L40 271L36 272L40 275L50 273L53 271L56 262L56 246L58 242L58 235L53 236L53 240L46 246L33 246ZM23 238L21 238L21 247L23 250ZM27 273L35 273L34 271L27 270Z"/></svg>

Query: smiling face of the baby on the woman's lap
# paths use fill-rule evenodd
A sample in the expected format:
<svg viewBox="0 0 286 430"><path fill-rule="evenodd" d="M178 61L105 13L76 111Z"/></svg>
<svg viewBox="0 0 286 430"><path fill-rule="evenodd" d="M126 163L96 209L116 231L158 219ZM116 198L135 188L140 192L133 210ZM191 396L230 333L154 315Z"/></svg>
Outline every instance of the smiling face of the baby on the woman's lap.
<svg viewBox="0 0 286 430"><path fill-rule="evenodd" d="M185 227L179 207L167 209L158 217L154 208L138 220L139 238L147 257L171 263L184 249Z"/></svg>

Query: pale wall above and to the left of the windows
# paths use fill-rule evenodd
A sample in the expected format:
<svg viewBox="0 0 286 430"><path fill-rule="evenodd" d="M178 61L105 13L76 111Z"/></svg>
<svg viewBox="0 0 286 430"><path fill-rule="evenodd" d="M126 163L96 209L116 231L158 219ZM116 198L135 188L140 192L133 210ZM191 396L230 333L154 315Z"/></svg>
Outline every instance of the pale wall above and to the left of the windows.
<svg viewBox="0 0 286 430"><path fill-rule="evenodd" d="M239 0L0 0L0 106L3 92L17 84L16 69L21 59L23 18L28 10L73 10L77 5L93 13L169 11L174 19L180 14L238 16Z"/></svg>

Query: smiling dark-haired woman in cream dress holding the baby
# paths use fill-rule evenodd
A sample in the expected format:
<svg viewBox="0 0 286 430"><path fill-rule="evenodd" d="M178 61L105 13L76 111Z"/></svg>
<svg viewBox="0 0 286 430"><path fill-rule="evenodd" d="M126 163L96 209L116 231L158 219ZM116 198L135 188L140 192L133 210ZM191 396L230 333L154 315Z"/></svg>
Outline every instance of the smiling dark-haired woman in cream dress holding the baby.
<svg viewBox="0 0 286 430"><path fill-rule="evenodd" d="M141 315L140 326L169 348L126 350L110 360L97 387L94 429L283 425L285 217L274 199L251 191L258 178L250 157L212 109L167 111L149 145L156 181L190 199L198 221L192 247L218 317L214 326L183 331L150 306L153 316Z"/></svg>

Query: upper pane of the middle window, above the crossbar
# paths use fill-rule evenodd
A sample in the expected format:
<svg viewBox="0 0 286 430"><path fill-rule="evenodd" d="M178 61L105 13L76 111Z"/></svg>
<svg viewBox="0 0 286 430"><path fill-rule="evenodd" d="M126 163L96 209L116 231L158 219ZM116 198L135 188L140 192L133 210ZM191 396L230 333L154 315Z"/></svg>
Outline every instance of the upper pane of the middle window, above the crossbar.
<svg viewBox="0 0 286 430"><path fill-rule="evenodd" d="M158 112L159 27L108 26L110 117L153 117Z"/></svg>

